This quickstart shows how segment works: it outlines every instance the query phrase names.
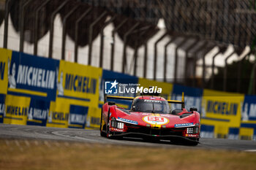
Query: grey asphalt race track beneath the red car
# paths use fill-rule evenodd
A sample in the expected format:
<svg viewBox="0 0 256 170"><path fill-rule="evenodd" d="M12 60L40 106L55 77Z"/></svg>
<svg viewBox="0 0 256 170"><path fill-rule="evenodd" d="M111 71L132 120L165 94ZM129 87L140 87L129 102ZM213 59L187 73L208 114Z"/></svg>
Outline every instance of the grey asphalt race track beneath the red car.
<svg viewBox="0 0 256 170"><path fill-rule="evenodd" d="M0 139L38 139L58 140L67 142L86 142L93 144L118 144L136 147L182 147L211 150L240 150L256 151L255 141L206 139L201 138L197 146L170 144L168 141L145 142L143 139L107 139L99 135L97 130L73 128L48 128L34 125L7 125L0 124Z"/></svg>

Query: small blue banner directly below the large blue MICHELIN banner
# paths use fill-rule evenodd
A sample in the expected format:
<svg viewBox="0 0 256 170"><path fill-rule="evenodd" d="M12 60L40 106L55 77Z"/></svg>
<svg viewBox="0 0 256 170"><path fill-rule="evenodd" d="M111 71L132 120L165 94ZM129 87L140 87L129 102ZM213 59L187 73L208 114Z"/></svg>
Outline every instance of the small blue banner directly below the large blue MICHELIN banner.
<svg viewBox="0 0 256 170"><path fill-rule="evenodd" d="M48 119L50 101L31 98L27 125L45 126Z"/></svg>

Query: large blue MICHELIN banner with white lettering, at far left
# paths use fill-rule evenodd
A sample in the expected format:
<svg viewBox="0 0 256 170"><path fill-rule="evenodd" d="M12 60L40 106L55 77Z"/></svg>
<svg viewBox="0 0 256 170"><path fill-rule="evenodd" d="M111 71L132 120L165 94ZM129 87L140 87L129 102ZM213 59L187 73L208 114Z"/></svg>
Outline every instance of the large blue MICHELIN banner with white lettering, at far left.
<svg viewBox="0 0 256 170"><path fill-rule="evenodd" d="M13 51L8 65L8 94L55 101L59 61Z"/></svg>

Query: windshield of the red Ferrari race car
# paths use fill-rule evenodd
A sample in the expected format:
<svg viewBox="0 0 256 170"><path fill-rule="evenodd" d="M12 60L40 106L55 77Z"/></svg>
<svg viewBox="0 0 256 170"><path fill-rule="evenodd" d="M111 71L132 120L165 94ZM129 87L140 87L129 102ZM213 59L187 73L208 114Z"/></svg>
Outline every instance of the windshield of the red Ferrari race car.
<svg viewBox="0 0 256 170"><path fill-rule="evenodd" d="M136 99L132 104L132 111L165 114L170 113L170 107L167 101Z"/></svg>

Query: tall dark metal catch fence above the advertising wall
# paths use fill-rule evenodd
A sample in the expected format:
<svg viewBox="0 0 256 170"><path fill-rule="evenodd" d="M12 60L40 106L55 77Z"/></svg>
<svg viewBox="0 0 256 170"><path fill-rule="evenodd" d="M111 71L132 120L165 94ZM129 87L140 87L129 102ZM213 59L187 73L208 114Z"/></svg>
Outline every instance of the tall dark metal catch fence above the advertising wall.
<svg viewBox="0 0 256 170"><path fill-rule="evenodd" d="M84 3L86 2L86 3ZM38 42L45 34L50 34L48 40L48 55L53 58L53 38L54 38L54 20L56 15L61 16L61 59L67 59L65 48L67 47L68 35L74 42L74 62L78 62L79 47L88 46L86 53L86 64L91 65L94 58L93 42L100 35L99 45L99 67L103 66L105 58L104 30L113 23L111 31L110 48L110 69L114 70L116 36L121 38L123 49L121 54L121 72L138 75L138 50L143 48L143 77L157 80L158 58L163 58L163 80L191 85L200 88L213 88L218 90L237 91L243 93L255 93L255 64L250 61L248 68L251 74L244 75L244 62L249 61L250 55L255 54L254 43L256 42L256 3L255 1L217 1L217 0L91 0L72 1L72 0L7 0L1 1L0 21L4 22L3 47L8 48L8 39L10 39L10 22L15 31L19 34L20 52L24 51L24 43L30 43L33 46L33 54L38 53ZM155 38L154 53L152 61L152 77L148 77L148 41L158 32L157 23L159 18L165 20L167 31ZM177 39L182 38L182 41ZM159 49L160 42L165 41ZM167 53L170 44L175 44L174 55ZM233 45L232 55L236 53L241 56L246 46L250 50L244 58L239 58L236 64L236 77L229 78L230 67L227 60L232 56L225 58L224 69L219 69L222 77L214 74L216 68L216 57L225 53L228 45ZM132 54L132 72L127 72L128 54L127 48L133 50ZM218 47L214 54L211 66L206 65L206 54ZM164 50L164 56L159 55L159 50ZM179 50L183 50L184 66L181 77L178 76L178 62L181 58ZM141 55L141 54L140 54ZM173 66L167 65L167 60L174 58ZM202 74L197 77L198 61L201 60ZM253 61L255 62L255 61ZM167 70L174 67L173 80L168 80ZM206 79L206 70L211 70L210 79ZM247 85L242 82L246 80ZM235 83L236 88L230 88L230 83ZM219 85L221 84L221 85ZM220 88L219 88L220 87ZM249 90L248 90L249 89Z"/></svg>

